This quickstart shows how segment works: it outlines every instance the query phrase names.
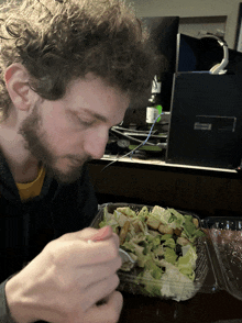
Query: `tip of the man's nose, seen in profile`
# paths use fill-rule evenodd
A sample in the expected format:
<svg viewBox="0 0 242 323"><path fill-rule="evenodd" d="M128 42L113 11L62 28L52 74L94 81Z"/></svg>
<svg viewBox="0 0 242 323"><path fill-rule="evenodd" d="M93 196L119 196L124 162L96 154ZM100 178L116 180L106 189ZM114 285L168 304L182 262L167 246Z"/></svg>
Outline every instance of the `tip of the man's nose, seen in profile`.
<svg viewBox="0 0 242 323"><path fill-rule="evenodd" d="M106 149L109 140L109 131L107 129L98 129L86 134L84 148L87 155L94 159L100 159Z"/></svg>

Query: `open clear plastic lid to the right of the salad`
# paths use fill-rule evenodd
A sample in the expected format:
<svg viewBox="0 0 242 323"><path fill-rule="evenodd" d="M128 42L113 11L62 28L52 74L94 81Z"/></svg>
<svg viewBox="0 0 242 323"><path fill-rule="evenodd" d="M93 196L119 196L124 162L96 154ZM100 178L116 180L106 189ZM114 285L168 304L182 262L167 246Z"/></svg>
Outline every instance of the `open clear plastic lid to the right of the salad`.
<svg viewBox="0 0 242 323"><path fill-rule="evenodd" d="M242 300L242 218L207 218L204 227L218 289Z"/></svg>

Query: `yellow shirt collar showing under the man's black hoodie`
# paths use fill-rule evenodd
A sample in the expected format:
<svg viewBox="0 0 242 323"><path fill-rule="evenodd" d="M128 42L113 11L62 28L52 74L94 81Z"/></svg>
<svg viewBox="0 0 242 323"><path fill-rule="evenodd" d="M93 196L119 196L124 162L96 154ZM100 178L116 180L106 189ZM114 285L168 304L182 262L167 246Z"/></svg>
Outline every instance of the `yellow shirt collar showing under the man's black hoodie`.
<svg viewBox="0 0 242 323"><path fill-rule="evenodd" d="M21 200L32 199L40 196L45 178L45 169L42 166L38 168L37 178L31 182L16 182Z"/></svg>

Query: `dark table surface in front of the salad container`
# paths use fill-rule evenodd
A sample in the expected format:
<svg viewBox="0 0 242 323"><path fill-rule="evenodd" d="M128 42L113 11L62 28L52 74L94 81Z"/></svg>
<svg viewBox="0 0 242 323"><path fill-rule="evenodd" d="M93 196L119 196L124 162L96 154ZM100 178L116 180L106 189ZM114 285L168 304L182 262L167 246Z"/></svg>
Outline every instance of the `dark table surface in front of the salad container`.
<svg viewBox="0 0 242 323"><path fill-rule="evenodd" d="M242 322L242 301L226 291L197 293L184 302L164 301L123 292L119 323L217 323Z"/></svg>

